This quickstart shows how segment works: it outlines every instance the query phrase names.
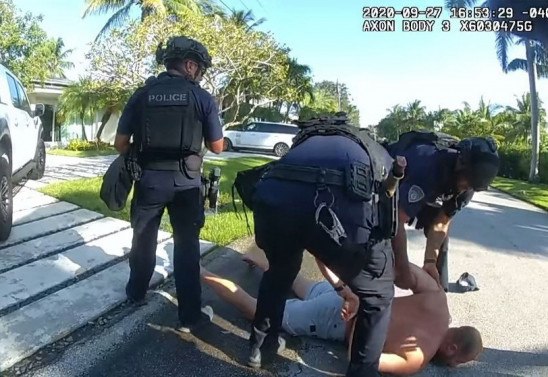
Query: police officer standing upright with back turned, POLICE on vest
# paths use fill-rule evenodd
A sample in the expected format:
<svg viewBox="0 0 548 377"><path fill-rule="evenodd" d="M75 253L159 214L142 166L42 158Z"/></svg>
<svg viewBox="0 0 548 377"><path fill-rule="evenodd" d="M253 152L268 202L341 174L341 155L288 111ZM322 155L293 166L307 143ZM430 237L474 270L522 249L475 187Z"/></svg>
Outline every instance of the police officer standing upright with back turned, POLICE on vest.
<svg viewBox="0 0 548 377"><path fill-rule="evenodd" d="M173 227L174 276L181 330L190 331L201 314L200 229L202 142L221 153L223 134L213 97L198 85L211 58L199 42L173 37L156 52L167 69L149 78L128 101L115 147L136 152L142 169L131 203L133 241L126 294L142 302L156 265L158 228L167 207Z"/></svg>

